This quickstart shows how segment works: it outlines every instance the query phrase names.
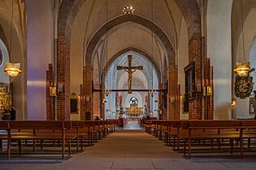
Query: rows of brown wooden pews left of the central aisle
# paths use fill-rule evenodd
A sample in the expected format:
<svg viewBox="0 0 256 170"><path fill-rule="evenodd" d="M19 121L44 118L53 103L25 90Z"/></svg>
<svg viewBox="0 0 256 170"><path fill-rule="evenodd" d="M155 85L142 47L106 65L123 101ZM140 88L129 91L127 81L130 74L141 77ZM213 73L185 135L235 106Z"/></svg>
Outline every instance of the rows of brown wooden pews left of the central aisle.
<svg viewBox="0 0 256 170"><path fill-rule="evenodd" d="M115 131L115 120L110 121L0 121L0 149L2 141L7 141L7 159L11 158L11 143L18 144L21 155L21 144L33 142L33 151L36 143L39 142L41 150L45 142L61 143L62 158L65 158L66 145L68 155L71 155L72 143L76 146L76 151L81 150L83 144L88 141L88 146L93 142L98 142L106 138L107 134ZM55 146L58 147L59 145Z"/></svg>

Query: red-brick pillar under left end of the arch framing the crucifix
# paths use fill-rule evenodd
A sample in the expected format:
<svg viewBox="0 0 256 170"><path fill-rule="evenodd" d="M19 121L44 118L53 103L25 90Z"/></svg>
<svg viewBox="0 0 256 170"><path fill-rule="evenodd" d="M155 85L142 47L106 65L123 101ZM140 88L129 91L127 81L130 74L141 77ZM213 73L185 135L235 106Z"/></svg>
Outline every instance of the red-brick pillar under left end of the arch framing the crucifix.
<svg viewBox="0 0 256 170"><path fill-rule="evenodd" d="M93 68L91 68L90 65L86 65L84 68L83 82L85 93L85 113L91 113L91 118L93 118ZM86 98L89 100L86 101Z"/></svg>

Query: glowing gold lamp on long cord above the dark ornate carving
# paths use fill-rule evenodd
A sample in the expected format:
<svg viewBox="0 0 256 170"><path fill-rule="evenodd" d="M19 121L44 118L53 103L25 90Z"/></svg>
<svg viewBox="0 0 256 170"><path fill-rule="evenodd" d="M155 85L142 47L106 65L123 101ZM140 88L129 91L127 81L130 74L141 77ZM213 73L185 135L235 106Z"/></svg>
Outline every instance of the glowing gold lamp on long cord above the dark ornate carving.
<svg viewBox="0 0 256 170"><path fill-rule="evenodd" d="M245 61L245 36L244 36L244 19L243 19L243 1L241 0L241 33L242 33L242 45L243 45L243 54L244 54L244 61L243 62L236 62L236 68L234 72L239 76L245 76L248 74L250 67L249 62Z"/></svg>

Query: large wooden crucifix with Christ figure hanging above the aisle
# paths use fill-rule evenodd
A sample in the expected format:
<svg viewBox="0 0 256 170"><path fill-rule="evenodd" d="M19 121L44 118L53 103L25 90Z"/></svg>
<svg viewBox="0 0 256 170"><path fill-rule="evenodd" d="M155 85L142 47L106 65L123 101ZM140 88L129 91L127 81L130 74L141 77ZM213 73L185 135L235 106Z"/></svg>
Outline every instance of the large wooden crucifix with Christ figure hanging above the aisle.
<svg viewBox="0 0 256 170"><path fill-rule="evenodd" d="M128 72L128 94L132 93L132 73L136 70L143 70L143 66L132 66L132 55L128 55L128 66L117 66L117 70Z"/></svg>

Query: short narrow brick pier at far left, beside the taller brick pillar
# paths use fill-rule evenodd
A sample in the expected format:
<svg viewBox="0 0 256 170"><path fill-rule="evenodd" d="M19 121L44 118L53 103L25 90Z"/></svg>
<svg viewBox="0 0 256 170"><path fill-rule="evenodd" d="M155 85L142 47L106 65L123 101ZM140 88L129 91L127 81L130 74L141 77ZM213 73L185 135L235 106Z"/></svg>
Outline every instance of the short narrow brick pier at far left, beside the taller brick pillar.
<svg viewBox="0 0 256 170"><path fill-rule="evenodd" d="M54 121L54 96L50 96L50 87L54 86L54 68L49 65L46 70L46 120Z"/></svg>

